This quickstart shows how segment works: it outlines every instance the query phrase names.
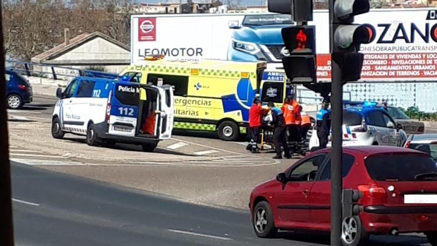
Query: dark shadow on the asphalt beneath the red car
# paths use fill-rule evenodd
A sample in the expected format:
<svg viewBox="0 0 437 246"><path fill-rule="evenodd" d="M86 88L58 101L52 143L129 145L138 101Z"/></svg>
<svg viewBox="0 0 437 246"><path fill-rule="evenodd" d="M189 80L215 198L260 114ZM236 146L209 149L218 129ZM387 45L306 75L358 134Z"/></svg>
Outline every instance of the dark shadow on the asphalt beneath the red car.
<svg viewBox="0 0 437 246"><path fill-rule="evenodd" d="M312 244L330 245L330 235L310 232L279 232L277 238ZM368 246L428 246L428 240L420 236L401 235L371 236Z"/></svg>

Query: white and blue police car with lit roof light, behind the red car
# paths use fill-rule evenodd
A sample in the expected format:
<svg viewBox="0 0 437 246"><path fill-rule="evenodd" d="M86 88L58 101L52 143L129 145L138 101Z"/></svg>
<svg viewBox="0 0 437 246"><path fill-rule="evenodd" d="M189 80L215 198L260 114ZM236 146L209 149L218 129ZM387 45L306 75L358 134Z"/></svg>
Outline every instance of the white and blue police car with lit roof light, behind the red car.
<svg viewBox="0 0 437 246"><path fill-rule="evenodd" d="M403 146L407 135L386 110L374 102L345 102L343 107L343 146ZM331 146L329 138L328 147ZM309 140L309 150L319 147L317 134Z"/></svg>

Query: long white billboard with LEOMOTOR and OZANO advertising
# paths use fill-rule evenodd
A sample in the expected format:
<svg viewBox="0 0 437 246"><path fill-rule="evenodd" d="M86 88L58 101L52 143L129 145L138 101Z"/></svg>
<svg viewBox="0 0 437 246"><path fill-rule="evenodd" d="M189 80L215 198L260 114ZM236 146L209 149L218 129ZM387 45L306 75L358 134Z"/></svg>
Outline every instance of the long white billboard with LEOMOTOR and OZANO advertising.
<svg viewBox="0 0 437 246"><path fill-rule="evenodd" d="M437 79L436 9L372 9L356 16L373 32L365 54L362 81L430 81ZM329 18L326 10L313 14L316 25L317 77L329 81ZM281 29L292 24L290 15L166 14L132 15L131 60L145 55L198 61L219 59L267 61L282 67L288 54Z"/></svg>

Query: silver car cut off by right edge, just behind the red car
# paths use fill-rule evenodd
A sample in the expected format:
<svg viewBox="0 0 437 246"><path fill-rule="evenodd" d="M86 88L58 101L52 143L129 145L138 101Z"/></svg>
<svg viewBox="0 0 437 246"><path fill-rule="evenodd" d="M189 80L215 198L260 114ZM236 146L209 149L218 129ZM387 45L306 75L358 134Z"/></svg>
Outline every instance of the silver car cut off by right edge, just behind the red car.
<svg viewBox="0 0 437 246"><path fill-rule="evenodd" d="M412 134L405 142L405 148L427 153L437 162L437 134Z"/></svg>

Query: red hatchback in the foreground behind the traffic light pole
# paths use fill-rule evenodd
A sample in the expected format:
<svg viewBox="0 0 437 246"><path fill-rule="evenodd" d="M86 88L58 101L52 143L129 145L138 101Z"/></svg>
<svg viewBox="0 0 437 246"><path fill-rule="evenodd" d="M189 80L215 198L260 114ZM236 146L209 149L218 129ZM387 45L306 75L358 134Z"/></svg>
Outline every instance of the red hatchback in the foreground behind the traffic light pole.
<svg viewBox="0 0 437 246"><path fill-rule="evenodd" d="M282 230L330 230L330 149L291 165L250 194L258 237ZM345 218L343 244L360 246L370 234L425 233L437 246L437 164L425 153L385 146L343 148L343 187L358 189L358 216Z"/></svg>

